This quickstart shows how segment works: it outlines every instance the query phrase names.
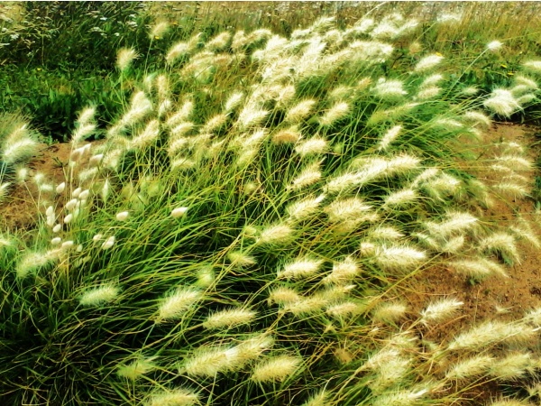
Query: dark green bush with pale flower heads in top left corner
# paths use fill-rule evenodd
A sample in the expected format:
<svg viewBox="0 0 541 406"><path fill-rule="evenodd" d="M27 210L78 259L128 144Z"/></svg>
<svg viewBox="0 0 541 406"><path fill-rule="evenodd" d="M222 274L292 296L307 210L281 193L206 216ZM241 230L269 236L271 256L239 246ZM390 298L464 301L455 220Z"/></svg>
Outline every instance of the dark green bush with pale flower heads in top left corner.
<svg viewBox="0 0 541 406"><path fill-rule="evenodd" d="M24 2L23 19L2 23L0 60L44 69L111 69L116 49L148 45L144 4L138 2Z"/></svg>

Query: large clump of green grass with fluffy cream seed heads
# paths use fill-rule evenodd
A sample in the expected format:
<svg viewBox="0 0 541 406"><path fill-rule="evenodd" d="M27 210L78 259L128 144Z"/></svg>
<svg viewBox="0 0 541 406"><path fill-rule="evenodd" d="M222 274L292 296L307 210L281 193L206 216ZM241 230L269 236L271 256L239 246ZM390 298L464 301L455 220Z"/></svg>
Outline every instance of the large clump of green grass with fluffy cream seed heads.
<svg viewBox="0 0 541 406"><path fill-rule="evenodd" d="M345 29L324 18L289 37L201 32L160 42L162 62L142 75L128 67L147 50L121 51L133 92L105 141L85 142L101 131L89 106L61 182L22 172L38 220L2 230L0 397L451 403L456 382L529 376L529 350L489 352L533 354L536 314L430 342L420 337L463 303L417 311L392 296L420 272L506 275L520 230L537 241L526 220L503 233L477 210L526 177L474 183L457 147L490 128L481 106L513 114L536 87L522 78L513 86L527 88L464 96L436 71L453 55L400 57L416 30L391 14ZM4 158L23 165L29 139L2 143ZM486 166L529 170L511 150Z"/></svg>

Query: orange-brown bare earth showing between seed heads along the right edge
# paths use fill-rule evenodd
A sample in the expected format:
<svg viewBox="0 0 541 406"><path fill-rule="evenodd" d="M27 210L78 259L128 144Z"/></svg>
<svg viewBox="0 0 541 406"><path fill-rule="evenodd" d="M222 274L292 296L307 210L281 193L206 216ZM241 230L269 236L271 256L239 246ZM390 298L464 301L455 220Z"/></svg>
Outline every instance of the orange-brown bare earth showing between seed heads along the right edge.
<svg viewBox="0 0 541 406"><path fill-rule="evenodd" d="M519 143L526 148L527 157L536 161L536 152L530 145L534 143L535 129L524 125L495 125L486 134L483 144L472 152L482 159L491 158L501 153L498 144L505 142ZM502 175L491 171L485 165L475 168L472 174L487 185L500 181ZM521 175L531 180L533 186L535 170L521 171ZM480 209L477 216L484 224L497 226L500 231L509 230L516 225L517 217L523 217L532 224L535 231L535 202L531 198L503 198L493 196L490 208ZM541 306L541 250L526 239L518 241L520 263L506 267L509 278L498 275L483 281L472 281L459 274L451 267L437 265L424 272L418 272L406 284L406 300L418 314L429 301L453 297L463 301L463 308L456 318L435 328L420 328L419 335L433 342L445 342L485 320L511 320L521 318L529 309ZM461 405L479 405L501 396L497 383L484 383L473 390L463 393Z"/></svg>

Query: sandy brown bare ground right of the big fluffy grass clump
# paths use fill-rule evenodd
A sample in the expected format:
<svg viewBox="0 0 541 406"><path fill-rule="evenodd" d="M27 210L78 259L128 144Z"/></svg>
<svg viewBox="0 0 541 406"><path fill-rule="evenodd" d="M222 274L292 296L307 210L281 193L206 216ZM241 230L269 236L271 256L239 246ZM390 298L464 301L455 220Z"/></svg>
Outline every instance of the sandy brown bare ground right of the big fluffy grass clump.
<svg viewBox="0 0 541 406"><path fill-rule="evenodd" d="M484 139L487 143L500 141L515 141L529 147L536 140L534 129L518 125L497 125L488 132ZM529 158L536 159L536 152L528 148ZM481 180L491 184L497 176L493 171L477 170ZM535 171L522 172L534 181ZM495 198L491 208L484 211L482 220L497 223L502 230L513 223L516 214L530 220L536 229L534 201L531 198L518 198L509 204L503 199ZM494 276L481 283L471 283L463 275L452 269L431 270L418 274L411 281L410 298L414 308L422 307L429 297L453 295L464 302L461 324L471 325L485 318L499 317L518 318L527 309L541 305L541 271L539 264L541 253L527 241L520 241L521 263L516 263L508 269L509 278ZM419 306L420 305L420 306ZM505 312L501 310L505 309ZM504 316L508 315L508 316ZM440 332L448 334L448 330Z"/></svg>

